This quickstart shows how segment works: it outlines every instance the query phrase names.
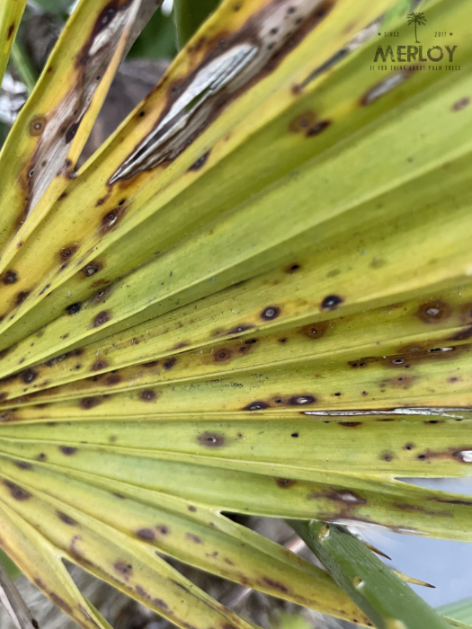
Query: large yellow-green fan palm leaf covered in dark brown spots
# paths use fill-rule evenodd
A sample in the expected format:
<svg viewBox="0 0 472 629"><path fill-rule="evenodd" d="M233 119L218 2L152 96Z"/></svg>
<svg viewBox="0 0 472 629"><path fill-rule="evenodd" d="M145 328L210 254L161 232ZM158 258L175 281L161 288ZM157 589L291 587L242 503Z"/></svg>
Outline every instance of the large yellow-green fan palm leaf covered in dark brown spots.
<svg viewBox="0 0 472 629"><path fill-rule="evenodd" d="M395 5L226 0L75 173L138 12L83 0L13 128L0 545L78 625L63 560L252 626L169 558L370 625L231 512L470 540L470 498L402 479L472 469L472 5L428 4L460 72L372 72Z"/></svg>

